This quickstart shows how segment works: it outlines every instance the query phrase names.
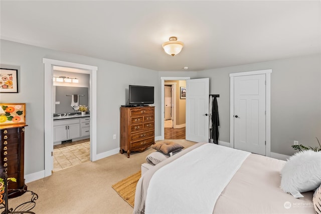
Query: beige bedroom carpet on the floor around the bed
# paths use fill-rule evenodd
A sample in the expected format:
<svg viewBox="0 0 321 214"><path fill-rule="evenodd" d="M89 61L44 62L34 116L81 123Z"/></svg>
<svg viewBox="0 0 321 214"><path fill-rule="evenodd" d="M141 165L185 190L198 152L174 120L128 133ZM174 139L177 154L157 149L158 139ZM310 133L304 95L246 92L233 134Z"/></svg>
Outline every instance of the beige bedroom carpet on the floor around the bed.
<svg viewBox="0 0 321 214"><path fill-rule="evenodd" d="M173 140L184 147L194 142ZM84 162L54 172L51 176L27 183L39 199L31 211L49 213L132 213L133 208L111 187L138 170L152 148L144 152L114 154L95 162ZM30 194L29 194L30 196ZM9 207L29 200L28 194L9 199Z"/></svg>

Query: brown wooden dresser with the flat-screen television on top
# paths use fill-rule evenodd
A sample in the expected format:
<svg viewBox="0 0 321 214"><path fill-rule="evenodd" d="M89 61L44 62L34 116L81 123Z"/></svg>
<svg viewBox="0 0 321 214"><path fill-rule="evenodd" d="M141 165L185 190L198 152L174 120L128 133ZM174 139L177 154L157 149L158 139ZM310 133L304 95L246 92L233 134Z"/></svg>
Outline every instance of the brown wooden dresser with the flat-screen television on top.
<svg viewBox="0 0 321 214"><path fill-rule="evenodd" d="M120 107L120 153L143 151L155 143L154 106Z"/></svg>

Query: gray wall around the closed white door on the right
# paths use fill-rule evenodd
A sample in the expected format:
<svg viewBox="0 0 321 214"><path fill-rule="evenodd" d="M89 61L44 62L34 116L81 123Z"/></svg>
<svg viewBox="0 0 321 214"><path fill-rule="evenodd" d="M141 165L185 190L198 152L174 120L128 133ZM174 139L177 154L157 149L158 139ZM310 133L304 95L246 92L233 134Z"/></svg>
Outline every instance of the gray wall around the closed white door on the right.
<svg viewBox="0 0 321 214"><path fill-rule="evenodd" d="M321 139L320 55L212 69L198 72L210 77L210 94L218 98L219 140L230 142L230 73L272 69L271 152L292 155L293 140L317 146Z"/></svg>

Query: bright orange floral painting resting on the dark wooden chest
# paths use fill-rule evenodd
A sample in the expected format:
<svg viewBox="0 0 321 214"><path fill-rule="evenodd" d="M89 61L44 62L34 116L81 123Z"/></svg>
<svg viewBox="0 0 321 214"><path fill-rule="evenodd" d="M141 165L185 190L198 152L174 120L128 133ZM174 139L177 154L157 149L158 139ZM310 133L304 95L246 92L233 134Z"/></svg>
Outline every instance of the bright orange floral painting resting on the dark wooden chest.
<svg viewBox="0 0 321 214"><path fill-rule="evenodd" d="M0 103L0 125L26 123L25 103Z"/></svg>

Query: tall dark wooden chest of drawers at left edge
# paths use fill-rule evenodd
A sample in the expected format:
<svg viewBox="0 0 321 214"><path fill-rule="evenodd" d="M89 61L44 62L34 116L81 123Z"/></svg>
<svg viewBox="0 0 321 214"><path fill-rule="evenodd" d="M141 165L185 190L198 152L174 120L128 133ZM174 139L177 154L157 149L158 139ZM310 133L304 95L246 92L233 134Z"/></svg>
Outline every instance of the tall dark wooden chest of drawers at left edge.
<svg viewBox="0 0 321 214"><path fill-rule="evenodd" d="M0 174L4 178L4 171L7 171L8 177L17 179L17 182L8 182L8 189L27 190L24 178L25 126L25 123L0 126ZM24 191L8 193L9 197L17 197Z"/></svg>

